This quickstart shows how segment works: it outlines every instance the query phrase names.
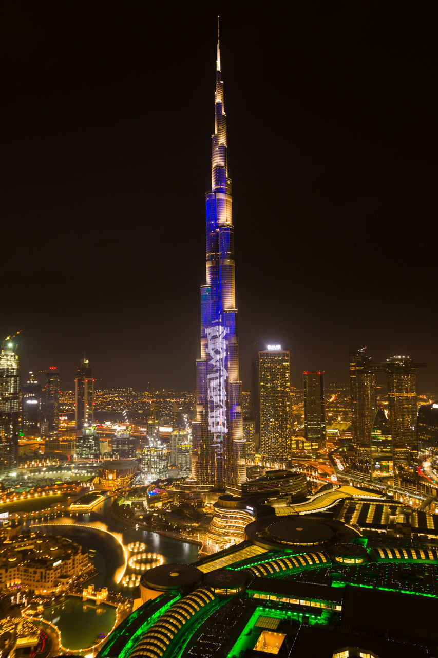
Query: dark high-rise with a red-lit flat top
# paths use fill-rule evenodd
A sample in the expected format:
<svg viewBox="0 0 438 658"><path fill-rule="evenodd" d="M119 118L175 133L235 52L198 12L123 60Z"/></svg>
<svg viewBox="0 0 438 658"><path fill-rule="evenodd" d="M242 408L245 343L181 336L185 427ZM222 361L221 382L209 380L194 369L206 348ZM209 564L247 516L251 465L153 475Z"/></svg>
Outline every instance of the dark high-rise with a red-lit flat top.
<svg viewBox="0 0 438 658"><path fill-rule="evenodd" d="M303 372L304 438L315 447L326 440L326 408L324 405L324 371Z"/></svg>

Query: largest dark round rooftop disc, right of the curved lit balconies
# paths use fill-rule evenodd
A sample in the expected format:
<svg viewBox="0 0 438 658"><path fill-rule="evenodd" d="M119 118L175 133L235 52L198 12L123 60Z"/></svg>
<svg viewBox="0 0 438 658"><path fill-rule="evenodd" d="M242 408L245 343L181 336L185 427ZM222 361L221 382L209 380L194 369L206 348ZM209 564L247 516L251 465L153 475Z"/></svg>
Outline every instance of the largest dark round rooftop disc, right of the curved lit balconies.
<svg viewBox="0 0 438 658"><path fill-rule="evenodd" d="M271 523L267 530L268 536L274 541L289 546L326 544L334 534L328 525L302 516Z"/></svg>

